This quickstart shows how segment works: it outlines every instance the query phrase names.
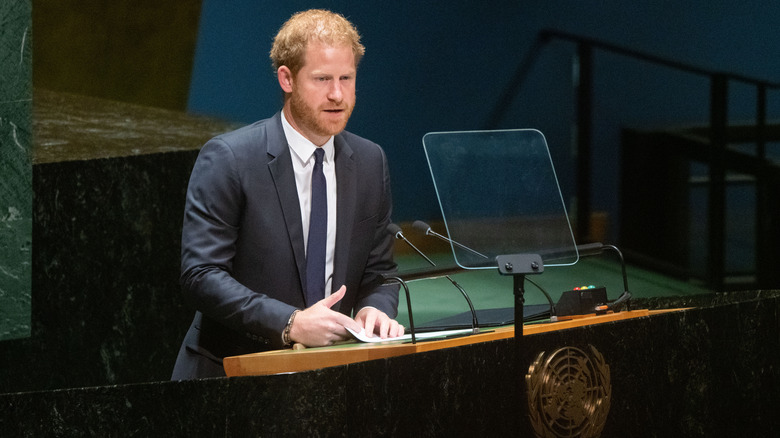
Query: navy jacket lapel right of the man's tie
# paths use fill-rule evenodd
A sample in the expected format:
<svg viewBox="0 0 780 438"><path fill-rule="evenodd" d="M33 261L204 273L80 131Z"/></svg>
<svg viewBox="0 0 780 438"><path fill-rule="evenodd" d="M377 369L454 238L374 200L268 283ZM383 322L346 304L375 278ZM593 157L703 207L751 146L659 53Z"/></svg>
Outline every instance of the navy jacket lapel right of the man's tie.
<svg viewBox="0 0 780 438"><path fill-rule="evenodd" d="M336 204L336 248L333 255L333 288L338 289L347 279L352 226L355 221L357 175L352 148L341 135L336 136L333 146L336 152L336 196L338 197ZM333 306L333 310L338 310L340 304L341 301Z"/></svg>

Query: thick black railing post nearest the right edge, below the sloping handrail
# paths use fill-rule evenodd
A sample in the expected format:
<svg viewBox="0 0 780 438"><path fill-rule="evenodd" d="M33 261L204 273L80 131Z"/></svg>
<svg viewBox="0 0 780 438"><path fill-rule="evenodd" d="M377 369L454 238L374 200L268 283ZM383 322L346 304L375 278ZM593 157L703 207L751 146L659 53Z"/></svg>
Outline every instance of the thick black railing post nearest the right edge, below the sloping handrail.
<svg viewBox="0 0 780 438"><path fill-rule="evenodd" d="M724 290L726 262L726 125L728 121L728 78L722 73L711 78L710 94L710 190L708 201L710 287Z"/></svg>

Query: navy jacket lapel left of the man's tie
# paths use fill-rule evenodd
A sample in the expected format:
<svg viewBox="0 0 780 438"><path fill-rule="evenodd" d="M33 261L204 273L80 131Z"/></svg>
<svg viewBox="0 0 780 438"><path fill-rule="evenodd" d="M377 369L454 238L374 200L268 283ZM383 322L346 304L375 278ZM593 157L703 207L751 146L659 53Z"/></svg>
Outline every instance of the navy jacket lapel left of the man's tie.
<svg viewBox="0 0 780 438"><path fill-rule="evenodd" d="M298 267L298 278L301 282L301 299L306 290L306 251L303 245L303 225L301 223L301 207L298 202L298 189L295 186L295 174L292 167L290 148L282 129L281 113L273 118L268 131L268 170L271 172L279 205L282 207L290 245Z"/></svg>

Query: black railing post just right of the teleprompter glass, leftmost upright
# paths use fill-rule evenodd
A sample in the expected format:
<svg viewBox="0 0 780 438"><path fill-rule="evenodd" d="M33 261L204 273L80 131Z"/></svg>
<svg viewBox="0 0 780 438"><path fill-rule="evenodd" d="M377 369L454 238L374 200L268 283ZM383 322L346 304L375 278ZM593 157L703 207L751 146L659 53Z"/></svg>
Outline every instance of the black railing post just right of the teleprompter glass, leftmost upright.
<svg viewBox="0 0 780 438"><path fill-rule="evenodd" d="M593 48L577 46L577 239L590 236L591 132L593 115Z"/></svg>

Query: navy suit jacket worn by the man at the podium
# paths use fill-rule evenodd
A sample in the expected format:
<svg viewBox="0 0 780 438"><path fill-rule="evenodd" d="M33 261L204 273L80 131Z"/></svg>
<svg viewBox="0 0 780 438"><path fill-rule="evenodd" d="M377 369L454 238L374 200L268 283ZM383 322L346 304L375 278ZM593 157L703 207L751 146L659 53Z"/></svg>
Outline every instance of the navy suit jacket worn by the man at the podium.
<svg viewBox="0 0 780 438"><path fill-rule="evenodd" d="M335 136L337 225L333 309L373 306L397 315L387 159L375 143ZM281 113L206 143L190 177L182 228L181 284L195 307L173 379L224 375L225 356L282 346L303 309L306 259L292 158Z"/></svg>

